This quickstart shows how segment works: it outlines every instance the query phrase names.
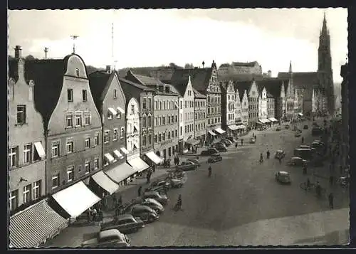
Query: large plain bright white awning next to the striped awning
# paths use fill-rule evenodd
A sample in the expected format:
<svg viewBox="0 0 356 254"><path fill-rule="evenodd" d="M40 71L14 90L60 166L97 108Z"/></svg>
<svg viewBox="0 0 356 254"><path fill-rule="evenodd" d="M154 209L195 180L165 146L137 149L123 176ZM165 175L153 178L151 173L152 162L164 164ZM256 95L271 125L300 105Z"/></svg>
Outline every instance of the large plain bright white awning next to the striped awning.
<svg viewBox="0 0 356 254"><path fill-rule="evenodd" d="M80 216L83 211L100 201L100 198L90 191L83 181L78 181L52 196L72 218Z"/></svg>

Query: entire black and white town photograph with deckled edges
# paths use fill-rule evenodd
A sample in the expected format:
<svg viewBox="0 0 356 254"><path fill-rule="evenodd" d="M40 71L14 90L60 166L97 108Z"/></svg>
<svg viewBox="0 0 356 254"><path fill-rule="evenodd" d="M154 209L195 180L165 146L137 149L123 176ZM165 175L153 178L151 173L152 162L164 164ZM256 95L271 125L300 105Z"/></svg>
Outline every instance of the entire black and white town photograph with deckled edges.
<svg viewBox="0 0 356 254"><path fill-rule="evenodd" d="M346 8L7 13L8 248L350 243Z"/></svg>

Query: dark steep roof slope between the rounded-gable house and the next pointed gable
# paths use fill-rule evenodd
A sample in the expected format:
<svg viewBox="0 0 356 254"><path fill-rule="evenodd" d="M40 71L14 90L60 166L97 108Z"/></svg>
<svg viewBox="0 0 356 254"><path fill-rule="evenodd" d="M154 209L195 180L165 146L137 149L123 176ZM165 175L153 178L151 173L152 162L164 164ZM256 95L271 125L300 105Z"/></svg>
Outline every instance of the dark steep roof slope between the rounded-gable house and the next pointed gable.
<svg viewBox="0 0 356 254"><path fill-rule="evenodd" d="M112 77L110 78L110 76ZM108 81L112 80L113 76L114 73L110 74L105 71L95 71L94 73L90 73L90 75L88 75L90 91L99 112L101 109L101 103L103 102L106 92L108 92L110 86L110 82Z"/></svg>

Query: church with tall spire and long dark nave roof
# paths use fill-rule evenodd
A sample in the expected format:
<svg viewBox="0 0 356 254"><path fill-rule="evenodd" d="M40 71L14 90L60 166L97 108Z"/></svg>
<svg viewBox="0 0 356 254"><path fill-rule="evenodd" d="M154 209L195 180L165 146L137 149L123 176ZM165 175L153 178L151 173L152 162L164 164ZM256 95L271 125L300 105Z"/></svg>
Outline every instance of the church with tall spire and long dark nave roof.
<svg viewBox="0 0 356 254"><path fill-rule="evenodd" d="M333 114L335 95L330 49L330 32L324 14L319 36L318 70L309 73L278 73L278 78L293 78L293 86L298 91L298 100L303 100L303 114ZM299 102L298 102L299 104Z"/></svg>

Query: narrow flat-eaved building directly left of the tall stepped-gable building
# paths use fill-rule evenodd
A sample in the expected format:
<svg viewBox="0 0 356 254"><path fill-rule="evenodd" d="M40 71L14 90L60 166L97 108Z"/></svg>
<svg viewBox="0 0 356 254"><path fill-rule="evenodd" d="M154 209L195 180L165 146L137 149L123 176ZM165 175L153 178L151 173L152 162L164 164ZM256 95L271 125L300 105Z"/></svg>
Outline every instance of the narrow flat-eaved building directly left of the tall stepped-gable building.
<svg viewBox="0 0 356 254"><path fill-rule="evenodd" d="M206 96L194 89L194 139L201 146L206 140Z"/></svg>

